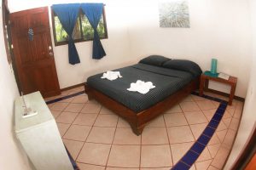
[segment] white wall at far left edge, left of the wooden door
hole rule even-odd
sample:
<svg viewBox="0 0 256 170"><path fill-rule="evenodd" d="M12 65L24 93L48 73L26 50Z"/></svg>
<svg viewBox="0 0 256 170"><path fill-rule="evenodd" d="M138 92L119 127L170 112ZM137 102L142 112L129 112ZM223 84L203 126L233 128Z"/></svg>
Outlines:
<svg viewBox="0 0 256 170"><path fill-rule="evenodd" d="M18 96L15 77L11 71L3 40L2 1L0 11L0 169L28 170L26 156L14 133L14 100Z"/></svg>

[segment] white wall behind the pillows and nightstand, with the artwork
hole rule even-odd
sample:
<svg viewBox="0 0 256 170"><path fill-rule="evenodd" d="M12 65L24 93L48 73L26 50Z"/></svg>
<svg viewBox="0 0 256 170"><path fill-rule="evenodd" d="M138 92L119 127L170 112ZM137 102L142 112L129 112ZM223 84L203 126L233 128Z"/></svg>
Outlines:
<svg viewBox="0 0 256 170"><path fill-rule="evenodd" d="M135 2L128 25L133 56L162 54L191 59L204 71L210 69L211 59L217 58L218 71L238 77L236 95L245 97L251 63L245 1L189 0L190 28L160 28L158 1ZM215 87L219 88L229 90L225 86Z"/></svg>

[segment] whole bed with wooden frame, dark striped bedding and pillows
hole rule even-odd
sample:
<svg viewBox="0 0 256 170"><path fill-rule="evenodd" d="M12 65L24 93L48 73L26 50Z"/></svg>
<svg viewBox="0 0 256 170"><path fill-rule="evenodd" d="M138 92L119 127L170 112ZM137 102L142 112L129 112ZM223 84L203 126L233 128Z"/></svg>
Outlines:
<svg viewBox="0 0 256 170"><path fill-rule="evenodd" d="M116 69L121 78L102 79L102 73L88 77L84 84L88 99L96 99L109 110L123 117L137 135L154 117L176 105L199 88L201 68L185 59L169 59L151 55L130 65ZM155 88L147 94L130 92L131 82L153 82Z"/></svg>

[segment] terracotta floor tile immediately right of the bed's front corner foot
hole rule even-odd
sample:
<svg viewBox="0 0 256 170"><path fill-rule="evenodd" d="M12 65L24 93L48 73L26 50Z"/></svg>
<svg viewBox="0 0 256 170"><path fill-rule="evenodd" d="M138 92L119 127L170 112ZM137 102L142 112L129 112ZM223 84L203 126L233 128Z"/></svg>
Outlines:
<svg viewBox="0 0 256 170"><path fill-rule="evenodd" d="M166 127L144 128L142 144L169 144Z"/></svg>

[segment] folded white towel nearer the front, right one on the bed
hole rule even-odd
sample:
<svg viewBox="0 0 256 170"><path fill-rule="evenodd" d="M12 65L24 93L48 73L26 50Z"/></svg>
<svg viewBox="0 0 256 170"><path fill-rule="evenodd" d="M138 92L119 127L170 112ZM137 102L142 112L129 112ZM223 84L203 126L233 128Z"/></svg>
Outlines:
<svg viewBox="0 0 256 170"><path fill-rule="evenodd" d="M151 88L155 88L152 82L137 80L137 82L131 82L131 87L127 88L127 90L131 92L138 92L140 94L147 94Z"/></svg>

